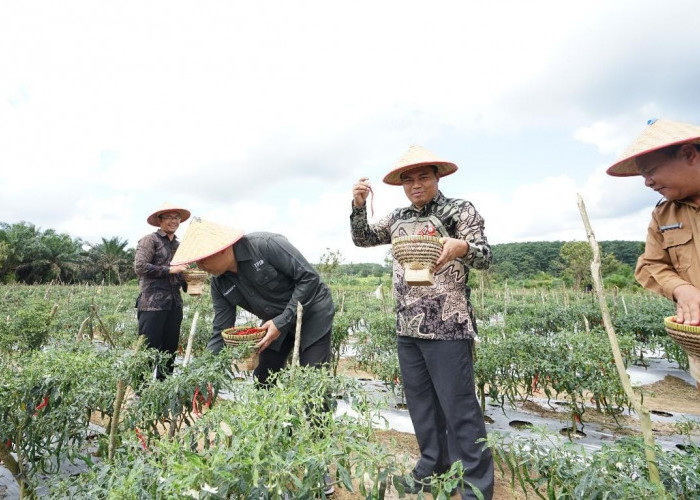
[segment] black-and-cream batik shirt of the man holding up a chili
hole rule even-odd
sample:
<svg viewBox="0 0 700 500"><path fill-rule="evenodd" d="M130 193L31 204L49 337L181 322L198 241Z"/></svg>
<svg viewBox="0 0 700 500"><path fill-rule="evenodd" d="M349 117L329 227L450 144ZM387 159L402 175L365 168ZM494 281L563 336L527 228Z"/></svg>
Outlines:
<svg viewBox="0 0 700 500"><path fill-rule="evenodd" d="M352 208L352 240L357 246L390 244L395 238L435 231L435 236L465 240L467 255L448 262L435 274L431 286L408 286L404 270L394 260L393 288L398 335L424 339L472 338L476 322L467 285L469 269L487 269L492 253L484 235L484 220L470 202L445 198L438 192L420 209L399 208L376 224L367 222L365 207Z"/></svg>

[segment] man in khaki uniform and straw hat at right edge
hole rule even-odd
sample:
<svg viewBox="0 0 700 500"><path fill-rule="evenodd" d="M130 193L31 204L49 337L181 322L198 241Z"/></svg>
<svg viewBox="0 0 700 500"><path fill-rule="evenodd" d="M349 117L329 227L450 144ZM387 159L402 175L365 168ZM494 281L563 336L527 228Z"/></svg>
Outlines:
<svg viewBox="0 0 700 500"><path fill-rule="evenodd" d="M700 127L650 120L608 174L641 175L662 195L635 278L676 303L676 322L700 325ZM700 391L700 358L688 355Z"/></svg>

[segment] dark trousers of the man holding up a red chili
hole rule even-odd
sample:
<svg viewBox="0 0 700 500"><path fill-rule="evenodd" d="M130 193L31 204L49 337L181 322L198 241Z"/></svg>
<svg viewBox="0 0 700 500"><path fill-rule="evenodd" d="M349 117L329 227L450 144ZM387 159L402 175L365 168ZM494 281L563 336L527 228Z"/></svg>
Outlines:
<svg viewBox="0 0 700 500"><path fill-rule="evenodd" d="M486 426L474 389L472 350L472 340L398 337L406 403L421 453L416 477L441 474L461 460L464 480L490 499L493 457L476 443L486 437ZM461 493L476 498L469 488Z"/></svg>

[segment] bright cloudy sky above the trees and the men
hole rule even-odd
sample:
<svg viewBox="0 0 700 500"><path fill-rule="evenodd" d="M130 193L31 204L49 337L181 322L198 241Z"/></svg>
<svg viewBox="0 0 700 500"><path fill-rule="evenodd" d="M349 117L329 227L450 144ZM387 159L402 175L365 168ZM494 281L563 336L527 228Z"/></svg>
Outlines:
<svg viewBox="0 0 700 500"><path fill-rule="evenodd" d="M605 168L650 118L700 124L697 0L4 1L0 222L134 247L163 201L355 248L412 144L459 165L491 243L642 240L658 196ZM187 223L178 234L184 234Z"/></svg>

